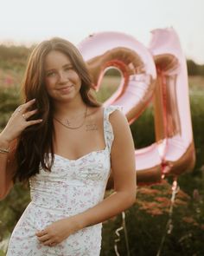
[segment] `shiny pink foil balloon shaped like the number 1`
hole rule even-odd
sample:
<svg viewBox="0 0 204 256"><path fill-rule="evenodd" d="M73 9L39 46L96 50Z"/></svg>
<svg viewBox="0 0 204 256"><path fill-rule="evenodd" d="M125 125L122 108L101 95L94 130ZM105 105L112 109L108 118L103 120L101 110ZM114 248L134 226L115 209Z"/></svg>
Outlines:
<svg viewBox="0 0 204 256"><path fill-rule="evenodd" d="M163 174L182 174L195 161L187 62L172 28L152 31L150 51L157 70L156 141L161 147Z"/></svg>

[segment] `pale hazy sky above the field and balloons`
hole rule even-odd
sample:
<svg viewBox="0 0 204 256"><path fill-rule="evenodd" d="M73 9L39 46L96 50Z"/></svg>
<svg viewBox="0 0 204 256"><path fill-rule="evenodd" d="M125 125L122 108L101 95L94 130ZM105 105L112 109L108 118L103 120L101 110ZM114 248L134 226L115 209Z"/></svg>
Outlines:
<svg viewBox="0 0 204 256"><path fill-rule="evenodd" d="M148 47L151 30L173 27L188 59L204 64L204 0L0 0L0 43L61 36L74 44L118 31Z"/></svg>

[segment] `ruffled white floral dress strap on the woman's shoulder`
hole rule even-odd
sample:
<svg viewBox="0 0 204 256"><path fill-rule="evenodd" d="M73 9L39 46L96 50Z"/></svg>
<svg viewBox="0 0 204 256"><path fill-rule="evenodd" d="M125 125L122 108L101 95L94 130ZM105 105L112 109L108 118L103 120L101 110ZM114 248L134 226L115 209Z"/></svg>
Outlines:
<svg viewBox="0 0 204 256"><path fill-rule="evenodd" d="M106 106L104 109L104 133L105 133L105 145L108 148L109 152L112 149L112 141L114 140L114 134L112 130L112 124L109 121L109 115L112 114L115 110L123 111L122 106Z"/></svg>

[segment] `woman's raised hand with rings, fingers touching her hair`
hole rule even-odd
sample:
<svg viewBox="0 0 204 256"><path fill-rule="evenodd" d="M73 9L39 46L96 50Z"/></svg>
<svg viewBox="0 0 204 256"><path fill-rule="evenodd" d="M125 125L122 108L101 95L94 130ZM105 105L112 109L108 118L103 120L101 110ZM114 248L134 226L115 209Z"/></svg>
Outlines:
<svg viewBox="0 0 204 256"><path fill-rule="evenodd" d="M27 121L27 119L34 115L38 109L29 111L29 108L35 103L35 99L26 102L20 105L14 113L10 116L10 120L8 121L6 127L3 129L1 133L1 138L3 141L7 141L10 143L15 140L19 135L21 135L22 131L34 124L40 123L42 120L32 120Z"/></svg>

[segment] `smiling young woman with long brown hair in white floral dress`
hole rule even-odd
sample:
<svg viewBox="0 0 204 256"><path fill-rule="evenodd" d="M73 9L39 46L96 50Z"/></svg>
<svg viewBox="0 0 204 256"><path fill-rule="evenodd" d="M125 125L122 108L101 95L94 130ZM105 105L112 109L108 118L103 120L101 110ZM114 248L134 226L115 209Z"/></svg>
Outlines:
<svg viewBox="0 0 204 256"><path fill-rule="evenodd" d="M16 108L0 134L0 195L16 181L31 202L11 235L8 256L99 255L102 222L136 197L134 145L123 113L91 95L86 63L53 38L29 57ZM112 169L114 193L104 199Z"/></svg>

